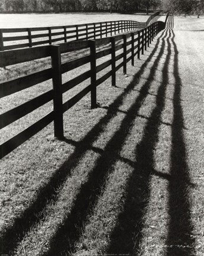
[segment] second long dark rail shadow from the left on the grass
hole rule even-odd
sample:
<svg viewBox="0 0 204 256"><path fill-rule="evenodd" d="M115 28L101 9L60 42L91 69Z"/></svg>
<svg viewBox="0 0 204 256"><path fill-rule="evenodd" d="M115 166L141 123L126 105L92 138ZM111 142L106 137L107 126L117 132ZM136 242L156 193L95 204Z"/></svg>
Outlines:
<svg viewBox="0 0 204 256"><path fill-rule="evenodd" d="M74 249L74 245L81 235L83 223L86 222L87 217L92 212L93 206L98 200L99 194L103 190L105 180L108 174L112 171L112 168L118 159L119 152L122 149L122 145L124 144L125 139L131 130L132 122L137 117L141 104L143 104L145 97L148 95L148 89L150 89L151 81L154 79L156 68L163 51L164 41L162 43L160 52L158 53L157 59L151 69L148 81L145 82L141 88L140 94L135 99L134 104L132 104L129 108L119 129L116 130L114 136L105 146L101 156L99 157L98 161L96 161L95 167L89 174L88 181L80 188L75 200L75 206L70 212L70 215L67 216L63 226L61 226L56 232L55 237L50 244L50 250L45 255L61 255ZM141 73L143 71L141 70L139 72ZM137 82L140 81L140 78L138 79L138 75L139 74L137 73L137 76L132 79L131 84L129 84L125 89L125 94L131 91ZM118 107L119 106L115 106L115 104L111 104L108 109L108 113L114 114L115 116L115 112L117 112Z"/></svg>

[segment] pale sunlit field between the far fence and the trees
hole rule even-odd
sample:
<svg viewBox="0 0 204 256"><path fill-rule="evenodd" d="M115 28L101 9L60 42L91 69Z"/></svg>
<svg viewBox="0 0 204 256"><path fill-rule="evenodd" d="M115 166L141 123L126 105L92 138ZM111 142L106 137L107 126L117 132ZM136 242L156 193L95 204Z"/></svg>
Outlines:
<svg viewBox="0 0 204 256"><path fill-rule="evenodd" d="M50 27L57 25L75 25L85 23L96 23L100 21L113 20L134 20L139 22L147 21L149 15L144 14L109 14L109 13L67 13L67 14L0 14L1 28L16 28L16 27ZM91 32L93 30L89 30ZM52 30L53 33L63 33L62 29ZM46 31L32 31L32 34L45 34ZM69 34L69 36L75 33ZM27 36L27 32L20 33L5 33L4 37ZM110 34L108 35L110 36ZM52 36L52 39L60 38L61 36ZM33 42L47 40L48 37L33 39ZM28 40L4 41L4 46L14 44L28 43ZM64 43L64 40L56 43Z"/></svg>

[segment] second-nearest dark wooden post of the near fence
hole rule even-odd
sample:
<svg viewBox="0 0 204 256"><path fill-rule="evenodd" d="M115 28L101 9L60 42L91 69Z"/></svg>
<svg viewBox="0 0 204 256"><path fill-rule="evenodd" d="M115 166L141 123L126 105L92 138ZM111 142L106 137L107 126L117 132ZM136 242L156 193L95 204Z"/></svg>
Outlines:
<svg viewBox="0 0 204 256"><path fill-rule="evenodd" d="M90 107L96 108L96 41L90 40Z"/></svg>

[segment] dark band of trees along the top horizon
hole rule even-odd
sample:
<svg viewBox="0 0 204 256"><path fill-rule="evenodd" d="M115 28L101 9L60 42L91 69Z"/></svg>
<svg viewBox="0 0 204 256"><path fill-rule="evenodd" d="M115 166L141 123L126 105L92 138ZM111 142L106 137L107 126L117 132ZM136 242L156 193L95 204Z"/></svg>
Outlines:
<svg viewBox="0 0 204 256"><path fill-rule="evenodd" d="M171 13L203 14L204 0L0 0L0 12L138 12L160 8Z"/></svg>

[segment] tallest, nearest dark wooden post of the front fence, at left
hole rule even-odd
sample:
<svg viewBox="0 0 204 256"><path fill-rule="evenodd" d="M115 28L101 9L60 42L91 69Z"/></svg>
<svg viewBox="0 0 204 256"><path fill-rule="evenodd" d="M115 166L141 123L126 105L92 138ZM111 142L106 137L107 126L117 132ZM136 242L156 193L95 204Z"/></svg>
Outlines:
<svg viewBox="0 0 204 256"><path fill-rule="evenodd" d="M61 89L61 53L59 45L51 46L51 64L53 68L53 105L54 136L63 139L63 105Z"/></svg>

